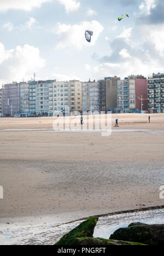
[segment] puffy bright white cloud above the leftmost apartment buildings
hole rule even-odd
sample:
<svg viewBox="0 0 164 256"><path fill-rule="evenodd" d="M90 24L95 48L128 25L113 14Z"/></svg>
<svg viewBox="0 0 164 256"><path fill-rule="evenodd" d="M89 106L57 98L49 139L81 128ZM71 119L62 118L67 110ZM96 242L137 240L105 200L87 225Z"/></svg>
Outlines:
<svg viewBox="0 0 164 256"><path fill-rule="evenodd" d="M45 66L45 60L40 58L39 49L25 44L15 49L5 50L0 43L0 77L8 81L29 79L33 72Z"/></svg>

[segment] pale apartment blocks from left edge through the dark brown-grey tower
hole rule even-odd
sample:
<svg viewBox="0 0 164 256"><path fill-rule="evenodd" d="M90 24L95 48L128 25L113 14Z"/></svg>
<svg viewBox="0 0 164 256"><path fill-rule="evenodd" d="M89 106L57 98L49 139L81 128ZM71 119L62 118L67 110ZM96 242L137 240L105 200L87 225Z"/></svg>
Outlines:
<svg viewBox="0 0 164 256"><path fill-rule="evenodd" d="M2 86L3 116L52 115L67 110L107 111L116 108L118 77L91 82L30 81ZM108 93L107 93L108 92Z"/></svg>

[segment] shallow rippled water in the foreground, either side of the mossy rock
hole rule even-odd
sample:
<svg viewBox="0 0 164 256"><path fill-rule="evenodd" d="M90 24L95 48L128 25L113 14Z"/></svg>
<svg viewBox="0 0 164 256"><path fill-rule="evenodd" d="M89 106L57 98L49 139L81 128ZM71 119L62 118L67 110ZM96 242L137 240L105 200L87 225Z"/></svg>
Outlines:
<svg viewBox="0 0 164 256"><path fill-rule="evenodd" d="M0 229L0 245L54 245L67 232L82 221L69 224L40 223L33 226L10 226ZM128 226L132 222L163 224L164 210L118 214L99 217L94 237L109 238L116 229Z"/></svg>

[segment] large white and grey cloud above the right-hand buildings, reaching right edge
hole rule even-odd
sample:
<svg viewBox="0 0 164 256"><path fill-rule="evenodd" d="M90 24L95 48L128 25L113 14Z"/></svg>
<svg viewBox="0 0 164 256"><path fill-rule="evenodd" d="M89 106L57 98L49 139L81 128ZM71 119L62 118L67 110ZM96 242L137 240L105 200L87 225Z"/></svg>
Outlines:
<svg viewBox="0 0 164 256"><path fill-rule="evenodd" d="M118 75L121 78L130 74L148 77L152 73L163 72L163 30L164 24L137 24L133 28L124 28L112 42L113 53L101 58L101 64L93 68L93 72L101 77Z"/></svg>

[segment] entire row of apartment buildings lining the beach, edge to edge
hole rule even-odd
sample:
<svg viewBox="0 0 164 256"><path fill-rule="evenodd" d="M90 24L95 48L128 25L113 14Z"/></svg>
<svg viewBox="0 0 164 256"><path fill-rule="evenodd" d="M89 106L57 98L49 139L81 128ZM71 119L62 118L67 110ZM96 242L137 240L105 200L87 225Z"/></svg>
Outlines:
<svg viewBox="0 0 164 256"><path fill-rule="evenodd" d="M13 82L0 89L0 117L3 115L52 115L54 112L164 113L164 74L150 78L130 75L124 80L56 82L56 80Z"/></svg>

